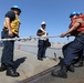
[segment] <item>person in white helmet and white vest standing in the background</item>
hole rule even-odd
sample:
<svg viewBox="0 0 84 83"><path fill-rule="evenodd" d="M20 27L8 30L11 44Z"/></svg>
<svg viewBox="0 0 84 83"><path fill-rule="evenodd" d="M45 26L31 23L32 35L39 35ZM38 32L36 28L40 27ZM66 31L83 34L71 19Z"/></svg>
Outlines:
<svg viewBox="0 0 84 83"><path fill-rule="evenodd" d="M39 50L38 50L38 60L40 60L40 61L43 61L43 58L46 58L45 56L45 51L46 51L45 43L46 43L48 32L45 31L45 27L46 27L46 23L43 21L41 23L41 28L36 32L38 37L43 37L43 38L40 38L39 41L38 41L38 48L39 48Z"/></svg>

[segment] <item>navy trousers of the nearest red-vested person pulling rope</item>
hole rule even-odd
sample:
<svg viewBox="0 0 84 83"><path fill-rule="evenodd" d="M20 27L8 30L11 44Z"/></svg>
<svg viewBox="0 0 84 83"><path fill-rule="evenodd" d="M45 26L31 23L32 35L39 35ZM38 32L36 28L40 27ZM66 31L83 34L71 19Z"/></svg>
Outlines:
<svg viewBox="0 0 84 83"><path fill-rule="evenodd" d="M66 48L62 48L63 54L64 54L64 61L63 64L71 65L73 59L75 58L76 53L82 51L84 49L84 34L77 35L74 41L69 43Z"/></svg>

